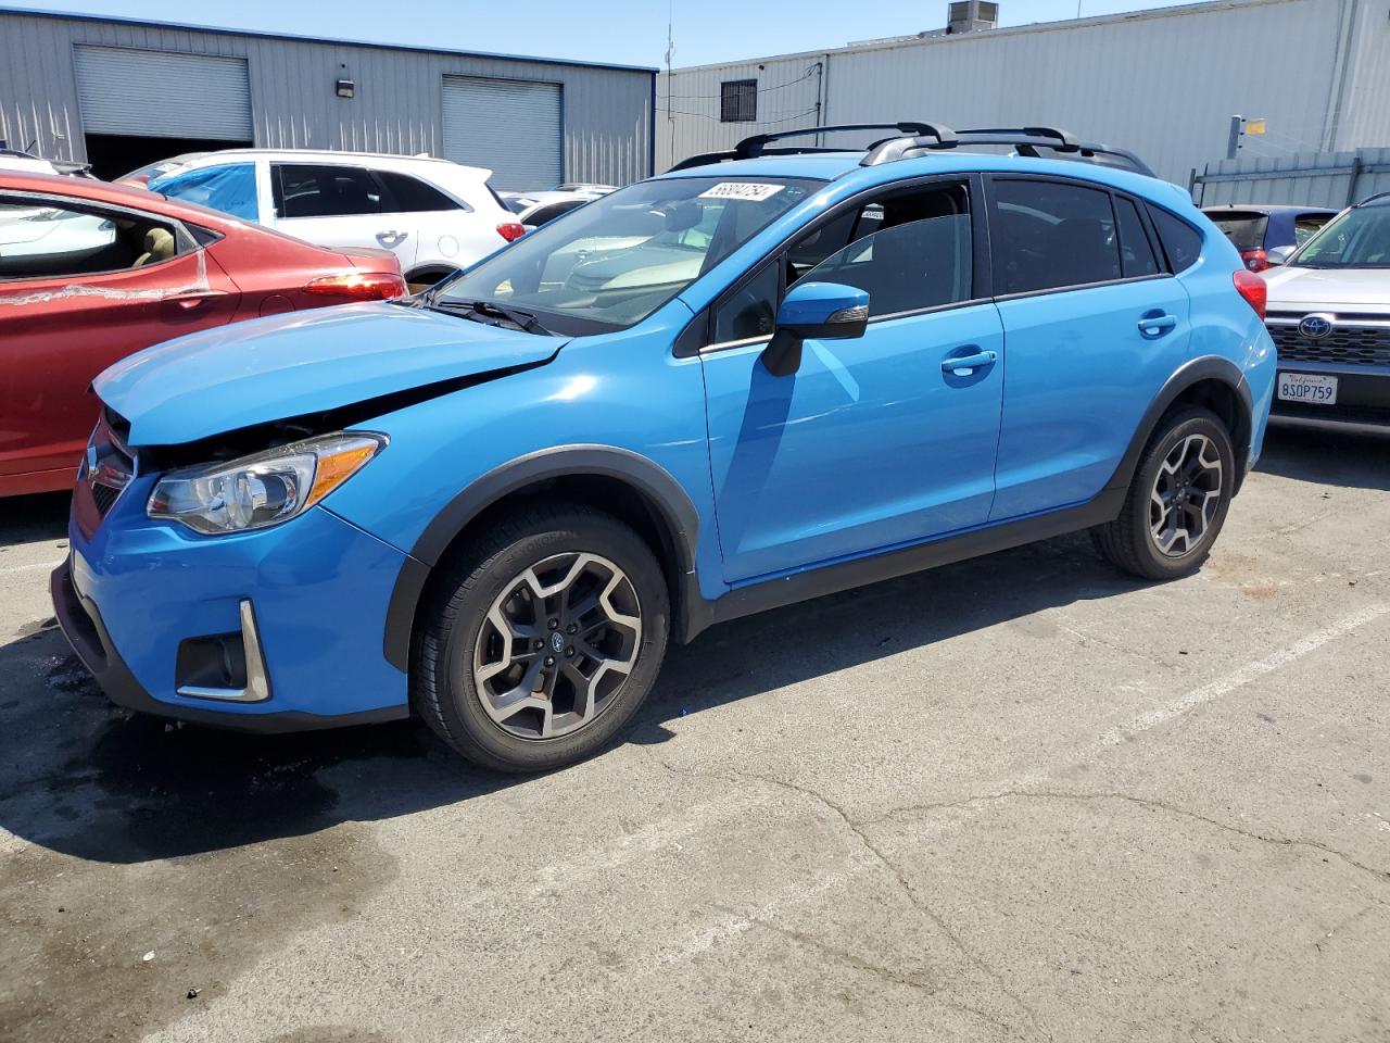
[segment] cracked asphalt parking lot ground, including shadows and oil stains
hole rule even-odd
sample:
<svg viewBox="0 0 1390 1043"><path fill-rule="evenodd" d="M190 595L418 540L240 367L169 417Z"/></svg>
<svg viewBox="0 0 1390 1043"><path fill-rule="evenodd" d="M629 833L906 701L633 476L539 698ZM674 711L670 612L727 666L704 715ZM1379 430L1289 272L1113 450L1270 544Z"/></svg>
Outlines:
<svg viewBox="0 0 1390 1043"><path fill-rule="evenodd" d="M0 1039L1390 1039L1390 437L1272 431L1176 583L719 627L534 779L111 708L65 510L0 501Z"/></svg>

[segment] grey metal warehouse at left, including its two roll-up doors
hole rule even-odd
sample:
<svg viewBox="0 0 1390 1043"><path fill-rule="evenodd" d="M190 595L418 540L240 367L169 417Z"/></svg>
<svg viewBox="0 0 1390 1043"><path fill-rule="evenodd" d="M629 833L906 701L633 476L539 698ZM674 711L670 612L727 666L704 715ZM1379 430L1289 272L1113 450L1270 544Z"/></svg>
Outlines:
<svg viewBox="0 0 1390 1043"><path fill-rule="evenodd" d="M653 161L656 70L0 11L0 139L118 177L238 146L430 153L502 189Z"/></svg>

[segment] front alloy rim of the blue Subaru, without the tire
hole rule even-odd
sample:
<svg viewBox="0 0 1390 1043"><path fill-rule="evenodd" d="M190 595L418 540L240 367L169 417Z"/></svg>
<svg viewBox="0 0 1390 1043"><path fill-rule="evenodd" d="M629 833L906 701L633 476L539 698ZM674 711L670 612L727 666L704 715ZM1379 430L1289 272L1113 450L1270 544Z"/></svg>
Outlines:
<svg viewBox="0 0 1390 1043"><path fill-rule="evenodd" d="M570 552L514 576L475 642L473 680L503 731L546 740L592 723L637 666L642 609L607 558Z"/></svg>

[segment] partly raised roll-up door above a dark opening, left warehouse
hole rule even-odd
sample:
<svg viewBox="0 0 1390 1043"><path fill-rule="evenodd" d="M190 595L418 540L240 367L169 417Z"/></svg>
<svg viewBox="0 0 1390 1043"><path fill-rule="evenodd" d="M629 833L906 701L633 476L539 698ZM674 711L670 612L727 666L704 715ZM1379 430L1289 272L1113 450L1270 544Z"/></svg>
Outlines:
<svg viewBox="0 0 1390 1043"><path fill-rule="evenodd" d="M88 134L252 140L245 58L88 45L74 53Z"/></svg>

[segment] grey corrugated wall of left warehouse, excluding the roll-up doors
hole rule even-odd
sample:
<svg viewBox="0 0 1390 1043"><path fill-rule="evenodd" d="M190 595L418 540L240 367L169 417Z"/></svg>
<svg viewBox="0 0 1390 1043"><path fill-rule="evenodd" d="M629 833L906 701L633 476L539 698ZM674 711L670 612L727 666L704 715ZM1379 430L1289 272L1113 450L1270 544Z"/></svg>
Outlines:
<svg viewBox="0 0 1390 1043"><path fill-rule="evenodd" d="M0 11L0 138L50 159L85 160L76 43L245 57L256 145L442 154L445 75L562 83L564 177L626 184L646 177L652 74L520 58L249 36ZM334 82L356 82L341 99Z"/></svg>

